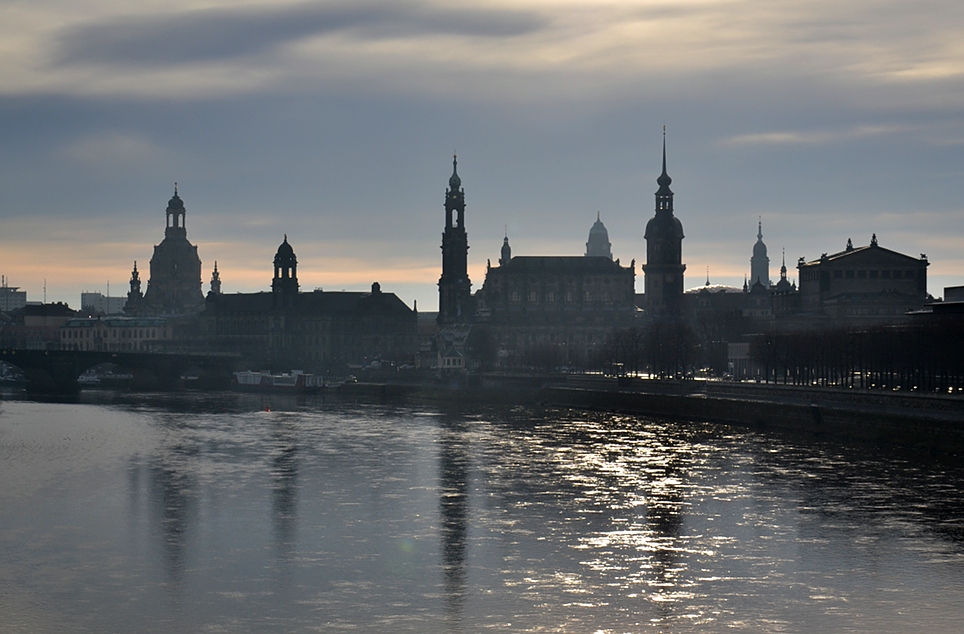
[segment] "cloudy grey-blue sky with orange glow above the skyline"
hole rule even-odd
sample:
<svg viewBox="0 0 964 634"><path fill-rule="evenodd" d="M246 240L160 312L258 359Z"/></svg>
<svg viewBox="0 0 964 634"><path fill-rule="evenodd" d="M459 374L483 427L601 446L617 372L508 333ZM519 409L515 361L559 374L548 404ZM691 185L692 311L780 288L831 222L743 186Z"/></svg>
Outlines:
<svg viewBox="0 0 964 634"><path fill-rule="evenodd" d="M964 284L958 0L5 0L0 274L79 307L146 271L178 183L204 291L379 282L438 306L458 154L469 267L636 261L663 126L686 287L869 244ZM46 291L45 291L46 289Z"/></svg>

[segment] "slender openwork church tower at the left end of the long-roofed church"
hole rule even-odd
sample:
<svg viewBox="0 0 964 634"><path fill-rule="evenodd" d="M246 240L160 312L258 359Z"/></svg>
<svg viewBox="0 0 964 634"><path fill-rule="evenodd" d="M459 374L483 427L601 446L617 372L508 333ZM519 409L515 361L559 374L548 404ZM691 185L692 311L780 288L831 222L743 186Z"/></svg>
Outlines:
<svg viewBox="0 0 964 634"><path fill-rule="evenodd" d="M452 176L445 190L445 230L442 232L442 276L438 281L439 325L464 323L472 317L469 280L469 237L465 232L465 190L452 157Z"/></svg>

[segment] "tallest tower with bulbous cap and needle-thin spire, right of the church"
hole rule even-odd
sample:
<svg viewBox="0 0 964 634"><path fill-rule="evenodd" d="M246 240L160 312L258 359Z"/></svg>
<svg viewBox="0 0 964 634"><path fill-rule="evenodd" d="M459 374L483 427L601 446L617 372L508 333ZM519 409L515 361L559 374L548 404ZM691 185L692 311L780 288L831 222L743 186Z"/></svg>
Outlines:
<svg viewBox="0 0 964 634"><path fill-rule="evenodd" d="M663 172L656 179L656 215L646 223L646 306L655 317L675 318L683 304L683 224L673 215L673 179L666 173L666 127L663 126Z"/></svg>

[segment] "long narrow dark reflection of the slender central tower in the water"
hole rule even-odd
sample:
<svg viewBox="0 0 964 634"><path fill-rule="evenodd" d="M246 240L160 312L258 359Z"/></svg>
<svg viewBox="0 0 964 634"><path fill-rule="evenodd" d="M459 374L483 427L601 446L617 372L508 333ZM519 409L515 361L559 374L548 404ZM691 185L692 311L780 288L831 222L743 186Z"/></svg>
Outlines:
<svg viewBox="0 0 964 634"><path fill-rule="evenodd" d="M442 419L439 437L439 513L442 575L448 618L458 622L465 600L469 522L469 447L464 423Z"/></svg>

